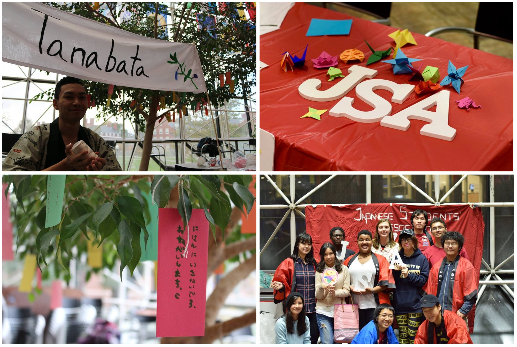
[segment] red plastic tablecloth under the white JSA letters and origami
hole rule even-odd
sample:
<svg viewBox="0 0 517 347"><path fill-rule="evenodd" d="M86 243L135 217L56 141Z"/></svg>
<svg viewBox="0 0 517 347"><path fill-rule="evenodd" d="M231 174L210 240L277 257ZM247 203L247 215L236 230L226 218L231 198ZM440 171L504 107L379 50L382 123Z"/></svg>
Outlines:
<svg viewBox="0 0 517 347"><path fill-rule="evenodd" d="M305 35L312 18L354 21L349 35L308 37ZM461 94L451 85L442 87L450 91L449 125L457 131L452 141L420 135L420 129L428 123L415 119L410 120L407 131L382 127L379 122L361 123L333 117L328 112L322 115L321 121L300 119L308 107L331 109L339 101L315 102L298 94L298 86L309 78L322 81L320 90L337 83L336 80L327 82L328 69L315 69L311 58L317 58L322 51L335 56L356 48L366 56L359 65L366 66L371 51L364 39L375 50L387 50L394 47L388 34L395 30L397 28L296 3L280 30L260 37L260 60L269 65L260 71L260 127L275 135L276 171L513 171L513 60L432 37L413 33L417 45L408 44L402 50L407 57L423 59L413 63L416 68L423 63L420 71L427 65L438 67L439 82L447 75L449 59L457 68L468 65ZM288 51L300 57L307 43L305 67L287 73L281 70L282 53ZM386 59L391 59L391 55ZM348 75L349 66L351 64L339 60L337 67ZM417 84L408 81L410 74L394 75L391 65L383 62L375 62L368 68L378 71L374 78ZM375 93L391 100L392 94L386 90ZM355 99L355 108L372 109L356 97L355 88L346 96ZM404 103L391 103L391 115L425 97L413 92ZM481 108L471 108L470 112L460 109L454 101L465 97L473 99ZM430 111L434 111L434 107Z"/></svg>

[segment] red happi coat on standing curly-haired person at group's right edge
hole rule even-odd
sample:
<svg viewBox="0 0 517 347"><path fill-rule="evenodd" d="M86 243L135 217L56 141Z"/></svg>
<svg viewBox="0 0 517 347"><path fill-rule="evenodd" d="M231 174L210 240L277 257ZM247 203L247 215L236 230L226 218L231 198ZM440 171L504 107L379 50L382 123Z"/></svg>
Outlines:
<svg viewBox="0 0 517 347"><path fill-rule="evenodd" d="M435 263L429 273L429 280L425 283L422 290L426 294L433 294L438 296L439 286L442 285L439 281L439 274L444 270L444 258L441 262ZM478 281L476 281L477 274L474 266L465 258L456 257L454 260L454 280L450 280L450 286L447 291L447 309L452 307L452 312L457 312L465 303L465 301L478 295ZM444 308L445 309L445 308Z"/></svg>

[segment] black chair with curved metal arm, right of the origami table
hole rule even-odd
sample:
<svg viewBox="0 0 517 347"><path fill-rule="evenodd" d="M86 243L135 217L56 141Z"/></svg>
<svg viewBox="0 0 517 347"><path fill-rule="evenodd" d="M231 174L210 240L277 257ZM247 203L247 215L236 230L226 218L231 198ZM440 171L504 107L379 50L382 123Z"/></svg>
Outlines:
<svg viewBox="0 0 517 347"><path fill-rule="evenodd" d="M496 20L495 20L496 19ZM425 36L435 36L449 31L464 31L474 35L474 48L479 49L479 37L513 43L513 3L479 3L475 28L443 26L429 31Z"/></svg>

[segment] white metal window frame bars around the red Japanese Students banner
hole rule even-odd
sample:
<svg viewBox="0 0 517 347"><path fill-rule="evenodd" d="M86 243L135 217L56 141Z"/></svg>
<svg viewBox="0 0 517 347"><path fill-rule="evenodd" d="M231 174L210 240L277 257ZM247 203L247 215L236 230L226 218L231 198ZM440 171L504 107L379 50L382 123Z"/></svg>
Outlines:
<svg viewBox="0 0 517 347"><path fill-rule="evenodd" d="M287 209L285 215L280 220L280 223L277 225L275 230L273 230L273 233L267 240L264 247L260 250L260 256L264 253L264 251L267 249L271 241L275 238L275 235L280 230L280 227L285 222L285 219L287 218L289 212L291 211L291 253L293 251L294 243L296 240L296 220L295 220L295 212L301 215L305 219L305 214L301 212L302 209L305 209L308 204L300 204L303 200L311 196L314 192L316 192L318 189L320 189L322 186L324 186L326 183L328 183L330 180L332 180L334 177L338 175L332 175L329 178L327 178L322 183L318 184L316 187L314 187L309 193L307 193L305 196L298 199L298 201L295 201L295 192L296 192L296 175L291 174L290 177L290 197L291 199L288 199L287 196L281 191L281 189L277 186L277 184L269 177L269 175L263 175L275 188L275 190L280 194L280 196L285 200L286 204L260 204L259 209ZM463 180L465 180L469 175L463 175L458 182L456 182L450 190L445 193L442 198L439 198L440 189L439 189L439 176L440 175L433 175L434 176L434 198L429 196L427 193L423 192L420 188L418 188L413 182L411 182L409 179L404 177L403 175L397 175L402 180L407 182L410 186L412 186L417 192L419 192L422 196L424 196L426 199L430 201L430 203L407 203L408 205L413 206L447 206L447 205L457 205L457 204L465 204L470 206L477 206L477 207L488 207L489 208L489 232L490 232L490 264L488 264L484 259L481 259L482 265L486 268L486 270L480 270L480 276L486 275L486 278L484 280L479 281L479 285L481 286L479 288L478 293L478 299L476 301L476 304L479 302L479 299L484 293L484 290L486 286L489 285L495 285L495 286L501 286L501 288L504 290L504 292L509 296L511 301L513 302L514 298L514 292L513 290L508 287L508 285L513 285L514 280L503 280L501 279L499 274L513 274L514 270L501 270L500 268L506 264L508 261L513 259L513 254L509 256L507 259L503 260L501 263L495 265L495 208L496 207L513 207L513 202L495 202L495 187L494 187L494 175L488 175L489 185L490 185L490 193L489 193L489 199L490 202L477 202L477 203L469 203L469 202L446 202L442 203L454 190L457 188ZM366 203L371 203L372 201L372 176L366 175ZM311 206L323 206L323 205L330 205L330 206L345 206L347 203L342 204L311 204ZM494 279L492 279L492 277Z"/></svg>

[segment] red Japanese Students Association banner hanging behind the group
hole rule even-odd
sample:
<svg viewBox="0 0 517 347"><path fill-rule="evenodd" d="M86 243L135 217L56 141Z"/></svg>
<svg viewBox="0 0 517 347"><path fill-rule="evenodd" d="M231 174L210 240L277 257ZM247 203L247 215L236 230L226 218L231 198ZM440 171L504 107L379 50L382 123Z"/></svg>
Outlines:
<svg viewBox="0 0 517 347"><path fill-rule="evenodd" d="M319 252L322 244L330 241L330 229L341 227L345 231L345 240L349 242L347 248L358 251L357 233L363 229L369 230L375 236L375 227L379 219L387 218L393 233L398 234L403 229L413 229L411 214L422 209L428 213L429 222L427 231L431 233L430 222L434 217L442 218L448 231L459 231L465 237L463 247L467 251L470 262L479 270L483 256L484 222L480 208L470 208L468 205L448 206L411 206L398 203L370 203L350 204L343 207L336 206L307 206L305 208L307 233L312 237L314 257L319 260ZM396 238L396 241L398 239ZM473 312L469 314L469 326L473 326ZM472 322L472 324L470 324Z"/></svg>

